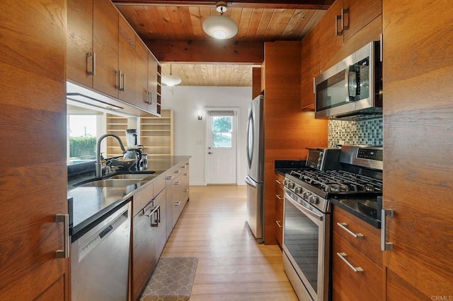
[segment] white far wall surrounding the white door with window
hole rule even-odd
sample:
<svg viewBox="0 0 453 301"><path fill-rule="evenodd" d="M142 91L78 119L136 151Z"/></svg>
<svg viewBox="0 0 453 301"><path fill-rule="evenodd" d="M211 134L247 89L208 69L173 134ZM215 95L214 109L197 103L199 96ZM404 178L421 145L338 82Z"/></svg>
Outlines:
<svg viewBox="0 0 453 301"><path fill-rule="evenodd" d="M246 126L251 87L162 87L162 107L174 114L175 155L191 155L190 185L205 185L206 116L205 107L237 107L237 184L245 185L247 175ZM198 113L203 119L198 120Z"/></svg>

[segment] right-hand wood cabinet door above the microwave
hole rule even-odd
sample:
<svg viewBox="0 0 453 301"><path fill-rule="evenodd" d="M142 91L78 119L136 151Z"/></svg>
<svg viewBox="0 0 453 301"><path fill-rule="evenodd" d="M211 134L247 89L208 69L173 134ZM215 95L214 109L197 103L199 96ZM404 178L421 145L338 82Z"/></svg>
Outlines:
<svg viewBox="0 0 453 301"><path fill-rule="evenodd" d="M382 15L382 0L343 0L345 9L345 25L343 42L358 33L372 20Z"/></svg>

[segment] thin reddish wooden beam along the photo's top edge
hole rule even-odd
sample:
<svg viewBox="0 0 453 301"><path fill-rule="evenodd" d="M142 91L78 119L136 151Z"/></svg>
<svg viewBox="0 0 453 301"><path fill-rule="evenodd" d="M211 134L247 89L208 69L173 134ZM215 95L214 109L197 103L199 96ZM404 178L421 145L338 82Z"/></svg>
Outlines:
<svg viewBox="0 0 453 301"><path fill-rule="evenodd" d="M212 0L112 0L115 5L215 6ZM227 6L241 8L292 8L327 10L335 0L235 0Z"/></svg>

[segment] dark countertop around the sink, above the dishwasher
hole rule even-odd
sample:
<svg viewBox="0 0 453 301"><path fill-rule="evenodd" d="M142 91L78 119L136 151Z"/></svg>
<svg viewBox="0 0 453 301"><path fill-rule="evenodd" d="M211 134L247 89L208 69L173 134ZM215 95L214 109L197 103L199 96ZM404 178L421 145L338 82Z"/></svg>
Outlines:
<svg viewBox="0 0 453 301"><path fill-rule="evenodd" d="M71 179L68 182L68 200L71 211L69 220L72 222L69 234L72 239L83 235L87 228L89 230L92 225L96 225L96 220L108 216L115 208L129 202L139 189L151 184L161 175L164 177L167 170L189 158L189 155L149 158L147 170L153 170L154 174L137 179L133 184L127 182L124 185L117 184L115 187L74 187L73 184L93 178L94 175L81 175Z"/></svg>

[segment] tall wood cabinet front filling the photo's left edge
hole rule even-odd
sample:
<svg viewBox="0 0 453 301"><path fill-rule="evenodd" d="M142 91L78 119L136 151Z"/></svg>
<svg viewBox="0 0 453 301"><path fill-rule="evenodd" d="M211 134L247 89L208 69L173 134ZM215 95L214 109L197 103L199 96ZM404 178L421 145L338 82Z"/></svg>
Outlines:
<svg viewBox="0 0 453 301"><path fill-rule="evenodd" d="M0 299L69 300L66 0L0 1ZM68 225L67 225L68 226Z"/></svg>

